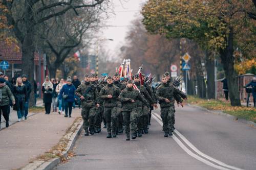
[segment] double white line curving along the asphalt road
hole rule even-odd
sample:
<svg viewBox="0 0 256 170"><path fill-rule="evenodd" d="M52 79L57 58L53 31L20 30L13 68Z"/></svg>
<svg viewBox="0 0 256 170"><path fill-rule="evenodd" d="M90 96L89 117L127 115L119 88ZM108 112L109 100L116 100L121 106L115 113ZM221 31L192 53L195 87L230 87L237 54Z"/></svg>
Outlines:
<svg viewBox="0 0 256 170"><path fill-rule="evenodd" d="M157 114L157 113L154 113L152 114L152 116L156 119L156 121L162 126L163 123L161 122L161 117ZM194 154L193 152L191 152L174 134L173 134L173 138L174 140L178 143L178 145L190 156L196 158L197 160L209 165L209 166L212 166L212 167L215 167L217 169L236 169L236 170L242 170L240 168L237 168L237 167L234 167L234 166L230 166L230 165L227 165L219 160L216 160L210 156L207 156L205 155L204 153L202 153L201 151L199 151L192 143L190 143L181 133L179 133L177 130L175 130L176 134L192 149L194 150L197 154L201 155L202 157L205 157L209 160L211 160L212 162L215 162L221 166L218 166L216 164L213 164L211 162L209 162L208 160L204 159L204 158L201 158L199 157L198 155ZM177 133L178 132L178 133ZM224 167L222 167L224 166ZM225 168L227 167L227 168Z"/></svg>

